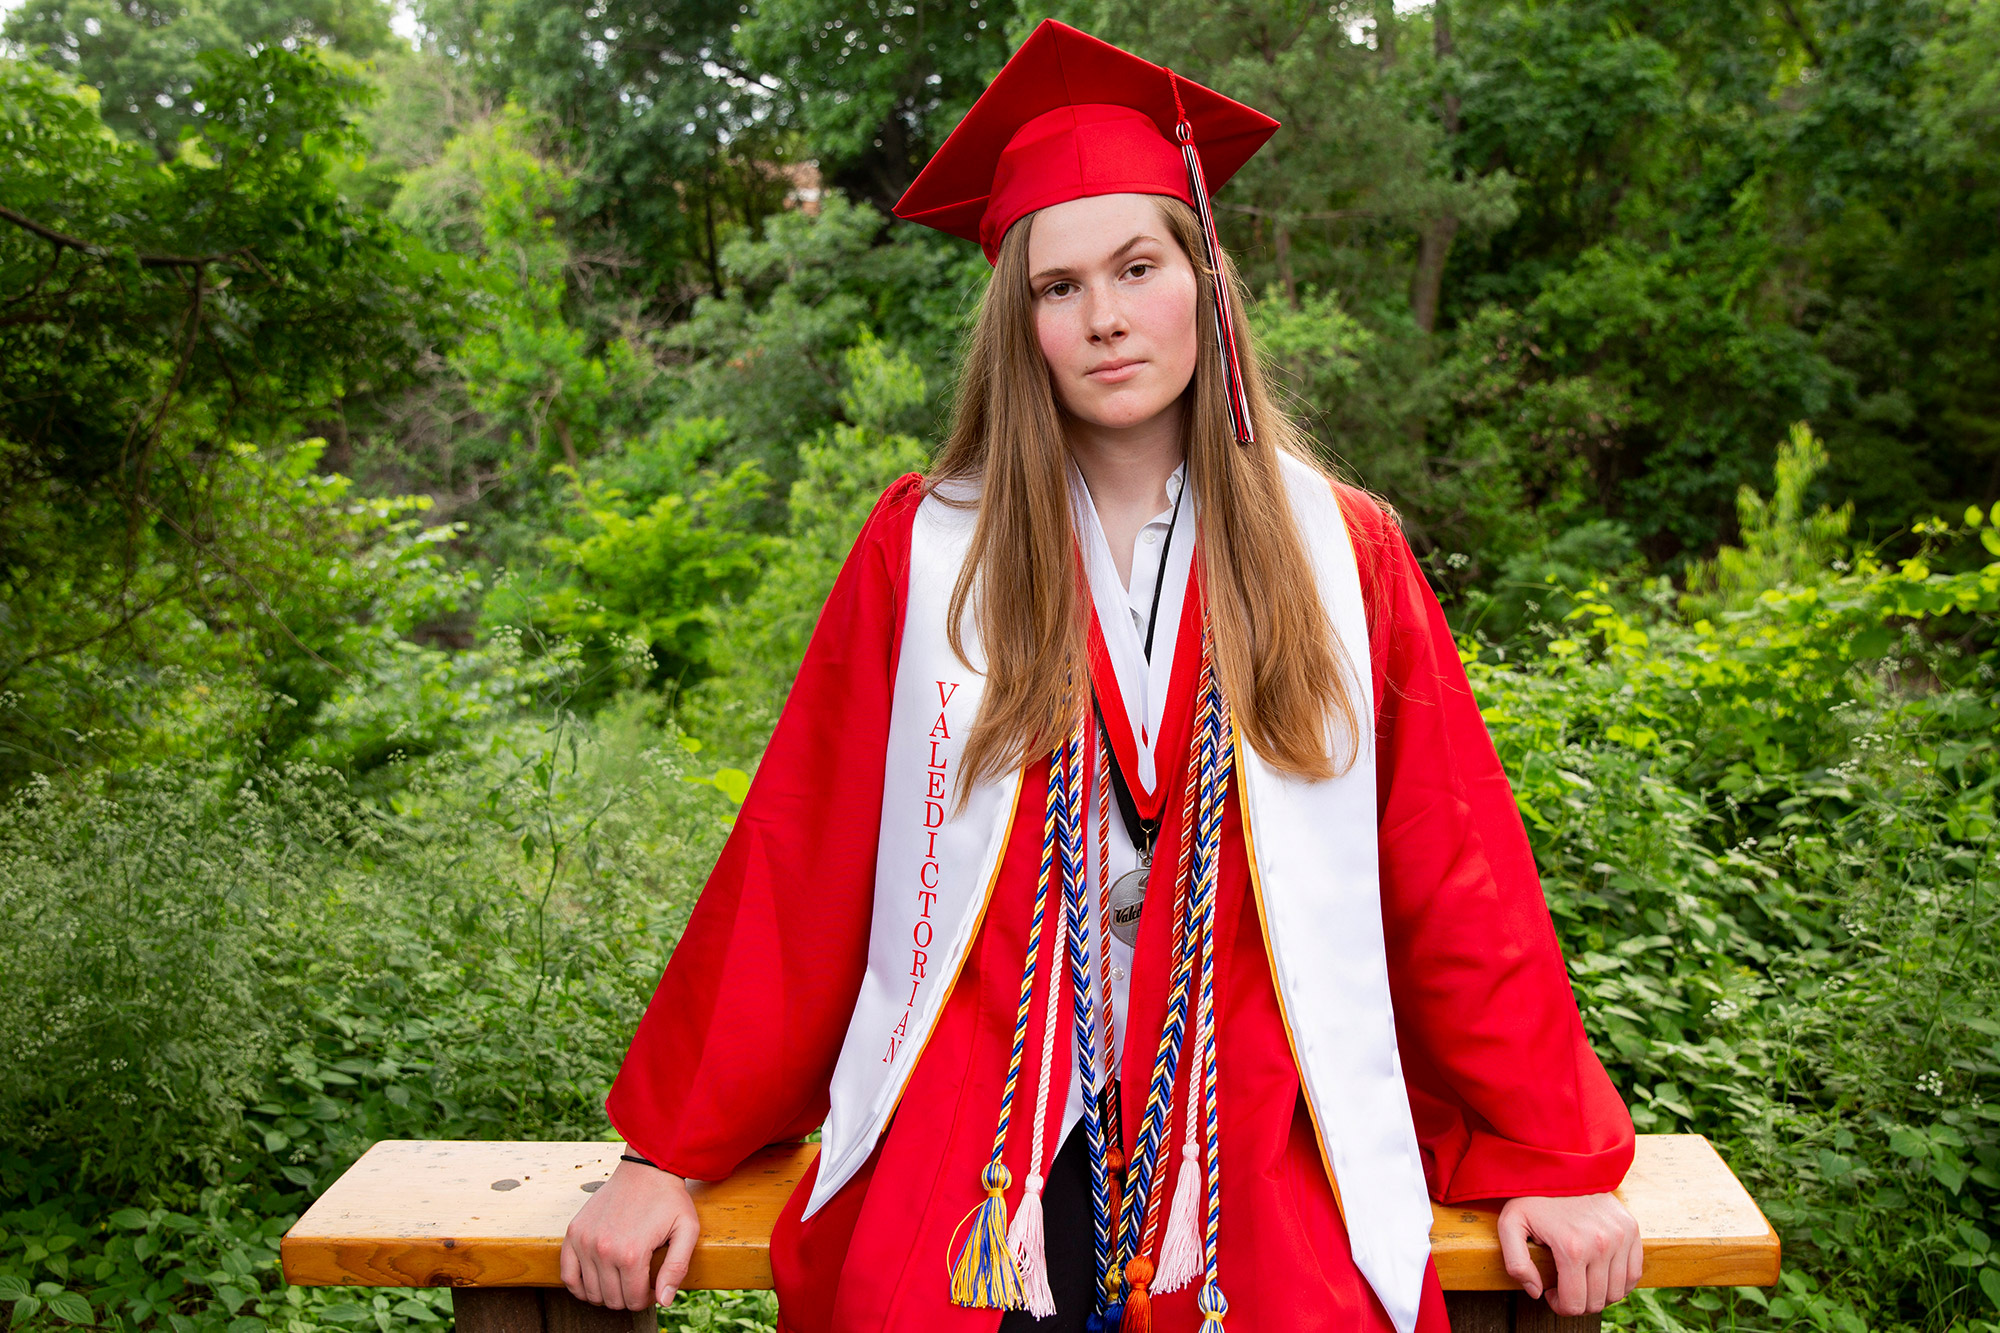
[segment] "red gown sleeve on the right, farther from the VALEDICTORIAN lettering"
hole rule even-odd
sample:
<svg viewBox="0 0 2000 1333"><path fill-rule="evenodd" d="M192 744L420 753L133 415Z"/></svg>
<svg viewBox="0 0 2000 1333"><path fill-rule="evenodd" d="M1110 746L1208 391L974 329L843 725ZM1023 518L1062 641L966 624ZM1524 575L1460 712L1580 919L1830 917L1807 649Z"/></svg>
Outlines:
<svg viewBox="0 0 2000 1333"><path fill-rule="evenodd" d="M1342 490L1376 695L1396 1035L1442 1203L1614 1189L1632 1117L1590 1049L1514 791L1396 520Z"/></svg>

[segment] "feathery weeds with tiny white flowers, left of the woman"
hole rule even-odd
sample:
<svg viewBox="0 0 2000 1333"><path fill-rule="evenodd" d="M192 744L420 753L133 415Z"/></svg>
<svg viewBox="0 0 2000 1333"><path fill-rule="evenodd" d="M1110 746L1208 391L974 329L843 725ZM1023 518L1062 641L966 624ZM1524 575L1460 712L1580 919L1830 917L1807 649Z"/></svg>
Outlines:
<svg viewBox="0 0 2000 1333"><path fill-rule="evenodd" d="M476 753L410 761L386 801L316 767L234 791L158 767L8 805L16 1321L76 1321L74 1301L178 1333L448 1315L444 1293L286 1289L276 1237L374 1139L608 1133L608 1057L730 801L684 781L656 707L582 723L574 687L574 662L522 685Z"/></svg>

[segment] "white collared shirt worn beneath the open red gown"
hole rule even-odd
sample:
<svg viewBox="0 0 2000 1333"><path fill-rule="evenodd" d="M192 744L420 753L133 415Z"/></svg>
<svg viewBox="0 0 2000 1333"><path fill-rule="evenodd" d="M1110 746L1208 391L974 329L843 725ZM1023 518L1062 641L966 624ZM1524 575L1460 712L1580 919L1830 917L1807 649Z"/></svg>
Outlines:
<svg viewBox="0 0 2000 1333"><path fill-rule="evenodd" d="M1104 522L1098 518L1098 508L1090 498L1090 488L1084 484L1084 476L1076 470L1076 464L1070 464L1070 502L1076 532L1084 546L1084 564L1090 576L1090 600L1098 608L1098 624L1104 630L1104 648L1110 656L1112 675L1118 679L1118 693L1124 697L1126 719L1132 725L1132 741L1138 749L1138 781L1148 791L1152 791L1160 781L1154 747L1160 739L1160 723L1166 715L1166 695L1174 681L1174 646L1180 640L1180 614L1188 596L1188 574L1194 568L1196 496L1190 494L1188 500L1180 504L1178 518L1174 514L1174 500L1180 498L1180 488L1184 484L1186 464L1174 468L1174 474L1166 480L1168 506L1154 514L1138 530L1138 538L1132 542L1132 582L1128 586L1118 578L1118 564L1112 558L1110 540L1104 536ZM1168 540L1168 532L1172 532L1172 540ZM1164 568L1162 548L1166 556ZM1148 660L1146 616L1152 610L1154 584L1162 576L1166 582L1160 586L1160 610L1154 622L1152 658ZM1084 849L1090 867L1090 901L1096 903L1096 895L1104 893L1104 887L1098 883L1096 857L1096 775L1092 775L1090 781L1092 789L1084 823ZM1112 881L1138 867L1138 849L1132 847L1132 837L1126 833L1116 801L1110 811L1108 845ZM1090 917L1094 933L1100 917L1096 911L1092 911ZM1098 941L1092 939L1092 955L1096 955L1098 947ZM1132 985L1132 947L1112 937L1110 959L1112 1051L1114 1059L1122 1059L1126 1009ZM1084 1113L1084 1089L1082 1081L1076 1077L1074 1063L1076 1043L1070 1041L1066 1045L1070 1047L1070 1097L1062 1111L1062 1133L1056 1143L1048 1147L1048 1157L1054 1157L1060 1141L1068 1137L1070 1129ZM1098 1071L1098 1075L1102 1077L1104 1071Z"/></svg>

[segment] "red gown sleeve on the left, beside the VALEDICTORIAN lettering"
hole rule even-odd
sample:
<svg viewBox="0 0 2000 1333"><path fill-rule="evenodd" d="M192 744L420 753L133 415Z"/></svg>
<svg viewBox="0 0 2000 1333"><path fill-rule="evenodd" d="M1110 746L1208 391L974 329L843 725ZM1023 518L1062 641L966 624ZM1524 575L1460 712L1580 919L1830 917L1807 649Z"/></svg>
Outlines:
<svg viewBox="0 0 2000 1333"><path fill-rule="evenodd" d="M700 1181L826 1117L868 967L882 767L918 476L848 552L688 929L606 1111L650 1161Z"/></svg>

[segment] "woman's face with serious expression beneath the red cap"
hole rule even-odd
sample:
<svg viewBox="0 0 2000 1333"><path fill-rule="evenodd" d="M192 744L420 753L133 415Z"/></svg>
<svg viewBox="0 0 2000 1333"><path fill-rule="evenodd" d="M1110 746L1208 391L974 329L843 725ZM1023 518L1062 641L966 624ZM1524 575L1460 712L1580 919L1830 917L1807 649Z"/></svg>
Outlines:
<svg viewBox="0 0 2000 1333"><path fill-rule="evenodd" d="M1150 194L1044 208L1028 236L1034 332L1056 398L1106 430L1150 422L1194 378L1194 264Z"/></svg>

